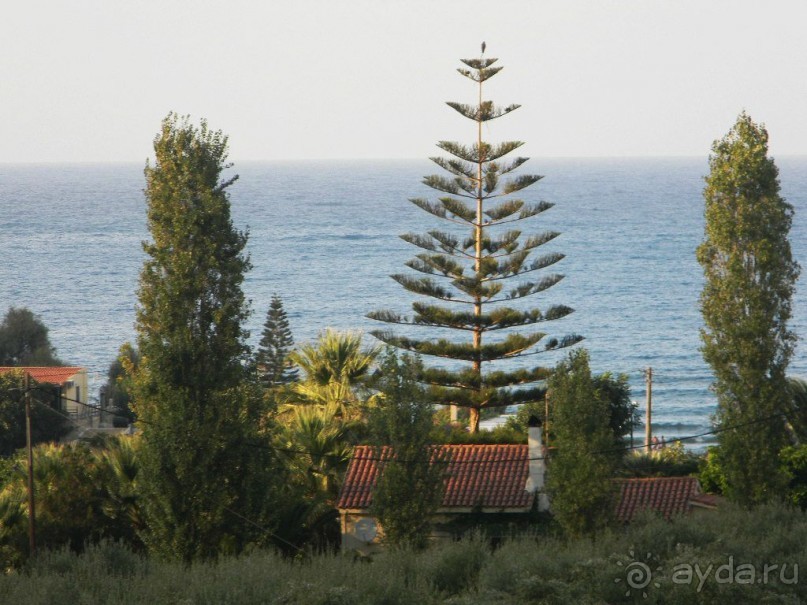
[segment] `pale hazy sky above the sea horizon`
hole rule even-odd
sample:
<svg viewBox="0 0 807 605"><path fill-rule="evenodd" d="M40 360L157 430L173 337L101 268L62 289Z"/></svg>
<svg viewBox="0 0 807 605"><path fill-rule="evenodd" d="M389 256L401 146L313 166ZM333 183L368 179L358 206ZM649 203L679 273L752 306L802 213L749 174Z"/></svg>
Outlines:
<svg viewBox="0 0 807 605"><path fill-rule="evenodd" d="M705 156L746 110L807 154L804 0L25 0L0 19L0 162L145 162L171 111L230 159L472 142L460 58L532 157Z"/></svg>

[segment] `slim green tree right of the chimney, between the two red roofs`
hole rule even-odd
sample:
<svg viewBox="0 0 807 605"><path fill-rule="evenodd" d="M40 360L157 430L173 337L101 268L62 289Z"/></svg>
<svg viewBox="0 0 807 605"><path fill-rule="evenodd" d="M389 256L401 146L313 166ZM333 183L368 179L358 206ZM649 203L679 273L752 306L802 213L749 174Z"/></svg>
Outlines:
<svg viewBox="0 0 807 605"><path fill-rule="evenodd" d="M571 536L605 526L613 506L613 448L608 409L595 390L585 349L573 351L549 379L557 448L547 473L552 512Z"/></svg>

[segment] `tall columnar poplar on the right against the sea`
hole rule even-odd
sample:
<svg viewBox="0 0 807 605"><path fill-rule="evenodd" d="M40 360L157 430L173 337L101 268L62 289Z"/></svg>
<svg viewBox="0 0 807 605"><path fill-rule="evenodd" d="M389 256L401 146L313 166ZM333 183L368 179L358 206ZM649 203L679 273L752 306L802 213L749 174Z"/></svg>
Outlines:
<svg viewBox="0 0 807 605"><path fill-rule="evenodd" d="M785 484L785 371L796 342L787 322L799 275L788 241L793 207L779 195L768 133L747 114L714 143L709 165L697 251L706 278L702 351L715 376L729 495L753 504L781 494Z"/></svg>

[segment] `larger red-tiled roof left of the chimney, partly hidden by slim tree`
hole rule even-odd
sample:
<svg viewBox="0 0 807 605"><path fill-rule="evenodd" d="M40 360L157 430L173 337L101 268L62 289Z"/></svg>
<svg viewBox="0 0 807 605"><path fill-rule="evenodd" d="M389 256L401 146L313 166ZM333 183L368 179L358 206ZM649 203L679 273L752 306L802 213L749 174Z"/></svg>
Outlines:
<svg viewBox="0 0 807 605"><path fill-rule="evenodd" d="M433 449L445 467L443 509L529 509L534 495L524 487L529 474L527 445L442 445ZM372 504L378 461L389 460L392 448L360 445L339 493L337 508L366 509Z"/></svg>

